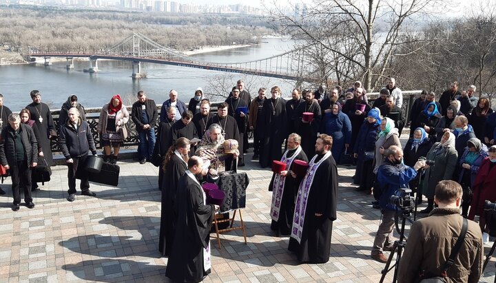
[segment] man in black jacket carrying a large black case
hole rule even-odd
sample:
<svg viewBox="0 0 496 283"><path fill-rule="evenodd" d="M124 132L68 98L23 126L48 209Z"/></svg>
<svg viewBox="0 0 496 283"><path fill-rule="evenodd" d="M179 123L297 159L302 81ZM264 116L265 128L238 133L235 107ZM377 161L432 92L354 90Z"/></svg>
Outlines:
<svg viewBox="0 0 496 283"><path fill-rule="evenodd" d="M68 116L67 122L60 131L59 146L65 157L65 163L68 165L69 196L67 200L73 202L76 197L76 175L81 178L81 195L96 196L96 193L90 191L88 174L84 168L88 151L96 156L96 147L90 125L79 118L79 111L72 107L69 109Z"/></svg>

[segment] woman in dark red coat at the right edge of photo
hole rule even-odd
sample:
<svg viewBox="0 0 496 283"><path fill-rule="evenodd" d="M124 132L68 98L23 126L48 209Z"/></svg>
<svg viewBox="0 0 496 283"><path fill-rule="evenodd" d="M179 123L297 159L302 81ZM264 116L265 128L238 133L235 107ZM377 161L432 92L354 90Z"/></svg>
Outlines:
<svg viewBox="0 0 496 283"><path fill-rule="evenodd" d="M484 237L488 238L486 232L486 218L484 213L484 201L496 202L496 145L489 147L488 157L484 158L479 167L475 181L473 182L473 197L471 211L468 219L473 220L479 216L479 226L484 232ZM484 239L485 240L485 239Z"/></svg>

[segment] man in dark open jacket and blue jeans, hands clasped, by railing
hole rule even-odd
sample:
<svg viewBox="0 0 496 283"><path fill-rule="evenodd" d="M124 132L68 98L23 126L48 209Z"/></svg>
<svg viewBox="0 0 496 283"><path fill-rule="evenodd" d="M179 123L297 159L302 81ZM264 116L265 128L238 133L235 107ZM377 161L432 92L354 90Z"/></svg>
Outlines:
<svg viewBox="0 0 496 283"><path fill-rule="evenodd" d="M152 158L155 145L155 125L158 111L155 101L146 97L145 92L138 92L138 101L133 103L131 118L138 132L138 159L145 164Z"/></svg>

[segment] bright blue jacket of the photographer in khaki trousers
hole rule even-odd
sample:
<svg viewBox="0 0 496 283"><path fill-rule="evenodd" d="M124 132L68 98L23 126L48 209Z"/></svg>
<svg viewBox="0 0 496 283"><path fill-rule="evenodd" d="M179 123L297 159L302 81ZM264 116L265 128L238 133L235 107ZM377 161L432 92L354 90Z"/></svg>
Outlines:
<svg viewBox="0 0 496 283"><path fill-rule="evenodd" d="M389 204L391 196L400 196L400 188L408 188L409 182L417 176L413 167L404 164L395 165L388 159L378 169L378 184L382 191L379 206L381 209L396 210L395 205Z"/></svg>

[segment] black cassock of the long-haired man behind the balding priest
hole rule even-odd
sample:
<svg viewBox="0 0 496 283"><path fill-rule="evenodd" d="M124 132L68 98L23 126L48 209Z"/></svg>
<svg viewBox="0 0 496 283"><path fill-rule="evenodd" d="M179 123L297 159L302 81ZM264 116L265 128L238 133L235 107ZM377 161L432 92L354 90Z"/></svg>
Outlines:
<svg viewBox="0 0 496 283"><path fill-rule="evenodd" d="M172 251L177 216L174 211L174 203L176 193L180 191L178 189L179 178L185 174L186 170L186 163L176 154L172 154L169 163L167 163L167 171L165 171L162 183L161 230L158 242L158 251L162 255L170 255Z"/></svg>

